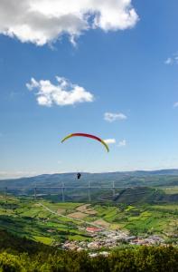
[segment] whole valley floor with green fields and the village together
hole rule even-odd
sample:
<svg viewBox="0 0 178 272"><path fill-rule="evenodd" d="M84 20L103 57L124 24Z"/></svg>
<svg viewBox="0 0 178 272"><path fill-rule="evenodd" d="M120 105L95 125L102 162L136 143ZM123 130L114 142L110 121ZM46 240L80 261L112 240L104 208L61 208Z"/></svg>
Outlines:
<svg viewBox="0 0 178 272"><path fill-rule="evenodd" d="M0 199L0 228L67 249L177 244L178 204L113 206L9 196Z"/></svg>

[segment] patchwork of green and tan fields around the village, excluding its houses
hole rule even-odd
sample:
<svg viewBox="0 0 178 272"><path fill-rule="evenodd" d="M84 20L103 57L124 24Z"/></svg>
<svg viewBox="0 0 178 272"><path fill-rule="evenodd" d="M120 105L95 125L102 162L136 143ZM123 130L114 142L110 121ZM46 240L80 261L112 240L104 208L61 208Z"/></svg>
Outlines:
<svg viewBox="0 0 178 272"><path fill-rule="evenodd" d="M91 239L86 227L97 224L121 229L131 235L159 234L172 237L178 229L178 204L115 206L82 203L52 203L8 197L0 199L0 228L48 245L66 239Z"/></svg>

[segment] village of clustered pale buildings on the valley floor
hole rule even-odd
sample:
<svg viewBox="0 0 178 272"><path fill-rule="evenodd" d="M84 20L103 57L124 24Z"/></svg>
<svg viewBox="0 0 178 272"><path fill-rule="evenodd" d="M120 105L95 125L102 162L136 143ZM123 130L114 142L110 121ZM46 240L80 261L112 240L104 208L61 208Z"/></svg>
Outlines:
<svg viewBox="0 0 178 272"><path fill-rule="evenodd" d="M164 238L159 236L149 236L147 238L141 238L136 236L128 236L124 231L111 231L103 230L101 228L86 228L86 231L89 234L89 237L92 238L92 241L80 241L80 240L67 240L62 245L63 249L70 250L90 250L95 251L102 248L116 248L122 244L129 245L163 245ZM93 253L94 254L94 253ZM103 253L102 253L103 254ZM104 251L105 255L108 255L108 252Z"/></svg>

